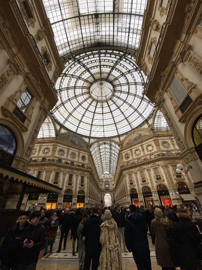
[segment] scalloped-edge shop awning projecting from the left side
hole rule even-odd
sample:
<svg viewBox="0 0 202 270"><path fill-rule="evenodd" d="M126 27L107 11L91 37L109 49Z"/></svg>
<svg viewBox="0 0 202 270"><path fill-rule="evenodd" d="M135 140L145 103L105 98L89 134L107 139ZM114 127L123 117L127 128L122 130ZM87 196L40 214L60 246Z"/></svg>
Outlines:
<svg viewBox="0 0 202 270"><path fill-rule="evenodd" d="M0 164L0 178L13 178L14 181L26 183L25 193L38 192L59 194L62 190L61 187L47 183L46 181L4 164Z"/></svg>

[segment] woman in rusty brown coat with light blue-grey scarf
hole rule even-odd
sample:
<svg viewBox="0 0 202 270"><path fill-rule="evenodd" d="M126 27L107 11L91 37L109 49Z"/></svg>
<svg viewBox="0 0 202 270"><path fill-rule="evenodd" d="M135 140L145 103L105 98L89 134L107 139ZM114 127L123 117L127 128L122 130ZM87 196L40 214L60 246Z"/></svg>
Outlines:
<svg viewBox="0 0 202 270"><path fill-rule="evenodd" d="M45 251L43 256L46 256L48 246L50 245L50 252L52 252L53 244L55 243L55 237L58 231L58 218L56 216L56 213L53 213L51 218L49 219L49 226L48 226L48 231L46 233L46 244L45 244Z"/></svg>

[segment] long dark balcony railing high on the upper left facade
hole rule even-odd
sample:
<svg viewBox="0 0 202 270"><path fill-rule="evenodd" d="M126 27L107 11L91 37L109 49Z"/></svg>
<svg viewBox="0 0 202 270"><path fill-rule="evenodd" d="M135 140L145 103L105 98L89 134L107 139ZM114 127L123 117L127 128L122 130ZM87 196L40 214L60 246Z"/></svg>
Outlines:
<svg viewBox="0 0 202 270"><path fill-rule="evenodd" d="M34 48L35 48L35 50L36 50L36 52L37 52L37 54L38 54L38 57L39 57L39 59L40 59L40 61L41 61L41 63L42 63L43 71L44 71L44 73L46 74L46 78L48 79L48 81L49 81L49 83L51 84L51 86L54 88L55 93L57 94L57 90L56 90L56 88L55 88L55 85L54 85L54 83L51 82L51 79L50 79L50 77L49 77L49 75L48 75L48 72L47 72L47 70L46 70L46 67L45 67L45 65L44 65L44 63L43 63L43 57L42 57L42 55L41 55L41 53L40 53L40 51L39 51L39 48L38 48L38 46L37 46L37 43L36 43L36 41L35 41L33 35L31 35L31 34L29 33L29 29L27 28L27 25L26 25L26 23L25 23L25 21L24 21L24 18L23 18L23 16L22 16L21 12L20 12L20 9L19 9L19 7L18 7L18 5L17 5L17 2L14 0L14 1L13 1L13 4L14 4L15 10L16 10L16 12L17 12L19 18L20 18L20 21L21 21L21 23L22 23L22 26L23 26L25 32L29 35L29 37L30 37L30 39L31 39L31 41L32 41L32 43L33 43L33 46L34 46Z"/></svg>

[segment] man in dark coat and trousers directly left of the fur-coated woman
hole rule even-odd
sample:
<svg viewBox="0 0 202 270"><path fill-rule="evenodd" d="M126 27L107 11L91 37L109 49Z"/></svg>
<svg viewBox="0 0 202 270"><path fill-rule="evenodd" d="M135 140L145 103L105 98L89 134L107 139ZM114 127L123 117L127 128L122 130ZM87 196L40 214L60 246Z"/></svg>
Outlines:
<svg viewBox="0 0 202 270"><path fill-rule="evenodd" d="M85 270L90 270L92 260L92 270L97 270L102 245L99 242L101 230L100 225L103 223L98 215L98 208L93 208L93 213L86 220L81 232L85 236Z"/></svg>

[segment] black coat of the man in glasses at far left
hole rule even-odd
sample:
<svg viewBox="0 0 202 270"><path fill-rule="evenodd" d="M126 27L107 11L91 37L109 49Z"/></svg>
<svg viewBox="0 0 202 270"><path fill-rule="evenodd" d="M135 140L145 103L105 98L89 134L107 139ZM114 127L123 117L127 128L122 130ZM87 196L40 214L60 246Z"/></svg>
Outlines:
<svg viewBox="0 0 202 270"><path fill-rule="evenodd" d="M20 262L23 253L21 238L24 234L25 228L28 226L29 222L27 221L24 228L20 230L19 223L17 223L14 230L7 233L0 248L0 260L2 265L14 267Z"/></svg>

